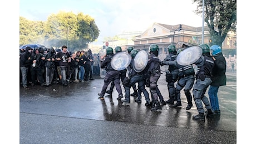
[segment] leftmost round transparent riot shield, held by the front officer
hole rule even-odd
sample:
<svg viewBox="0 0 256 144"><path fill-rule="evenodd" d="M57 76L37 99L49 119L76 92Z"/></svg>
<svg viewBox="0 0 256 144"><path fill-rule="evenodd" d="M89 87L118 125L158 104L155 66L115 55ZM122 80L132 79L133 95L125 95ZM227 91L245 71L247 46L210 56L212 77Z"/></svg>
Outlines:
<svg viewBox="0 0 256 144"><path fill-rule="evenodd" d="M124 70L131 63L131 55L126 52L118 52L111 59L111 66L115 70Z"/></svg>

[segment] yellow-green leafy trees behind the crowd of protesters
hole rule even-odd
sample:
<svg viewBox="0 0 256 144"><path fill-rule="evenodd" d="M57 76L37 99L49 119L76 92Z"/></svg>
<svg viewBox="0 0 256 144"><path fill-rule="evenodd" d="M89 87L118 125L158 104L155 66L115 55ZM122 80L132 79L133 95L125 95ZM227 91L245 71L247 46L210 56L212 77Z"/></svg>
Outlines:
<svg viewBox="0 0 256 144"><path fill-rule="evenodd" d="M19 45L39 43L56 48L67 45L68 50L74 51L87 48L99 35L95 20L83 13L61 11L51 14L46 22L19 17Z"/></svg>

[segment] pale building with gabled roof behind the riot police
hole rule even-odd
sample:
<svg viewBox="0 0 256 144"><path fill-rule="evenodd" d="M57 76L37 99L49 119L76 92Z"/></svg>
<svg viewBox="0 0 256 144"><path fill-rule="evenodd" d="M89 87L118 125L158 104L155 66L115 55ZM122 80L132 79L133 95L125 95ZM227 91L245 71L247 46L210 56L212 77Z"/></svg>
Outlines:
<svg viewBox="0 0 256 144"><path fill-rule="evenodd" d="M157 44L159 46L160 53L167 53L167 47L170 44L176 45L176 48L181 48L178 42L186 42L194 45L200 45L202 43L202 27L191 27L189 25L181 24L182 28L179 30L178 25L167 25L154 23L141 35L134 37L134 45L131 45L138 50L148 50L151 44ZM209 44L210 34L208 27L204 27L204 43ZM237 35L234 33L228 33L221 48L225 55L230 55L232 51L236 50ZM127 47L130 45L127 45ZM235 52L236 54L236 52ZM232 54L234 55L234 54Z"/></svg>

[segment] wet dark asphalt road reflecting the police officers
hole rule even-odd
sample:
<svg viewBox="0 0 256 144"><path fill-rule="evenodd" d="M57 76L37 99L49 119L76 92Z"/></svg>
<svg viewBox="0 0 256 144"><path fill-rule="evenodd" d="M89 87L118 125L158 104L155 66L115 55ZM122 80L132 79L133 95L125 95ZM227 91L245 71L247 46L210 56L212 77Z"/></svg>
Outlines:
<svg viewBox="0 0 256 144"><path fill-rule="evenodd" d="M19 142L237 143L236 73L227 72L227 78L227 85L221 86L218 93L221 115L205 121L192 120L198 111L194 101L191 110L185 110L183 90L181 108L163 105L155 112L145 106L145 97L138 104L131 96L130 105L123 106L116 100L115 88L112 97L106 94L105 100L98 99L104 84L99 76L66 87L20 86ZM168 100L165 74L158 85Z"/></svg>

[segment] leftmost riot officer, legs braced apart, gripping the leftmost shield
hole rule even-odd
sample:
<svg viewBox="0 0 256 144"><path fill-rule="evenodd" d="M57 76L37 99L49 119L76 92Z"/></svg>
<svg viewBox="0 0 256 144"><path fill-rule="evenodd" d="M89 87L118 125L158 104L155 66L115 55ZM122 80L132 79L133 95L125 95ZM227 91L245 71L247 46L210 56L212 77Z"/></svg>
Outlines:
<svg viewBox="0 0 256 144"><path fill-rule="evenodd" d="M120 71L117 71L112 68L111 66L111 59L113 58L113 48L107 47L106 48L106 56L104 60L101 62L101 68L106 69L106 76L104 78L104 85L102 86L101 92L98 94L100 99L104 99L104 95L106 93L107 86L111 83L111 81L114 81L116 91L118 92L119 96L117 97L117 100L121 100L122 97L122 89L120 85Z"/></svg>

